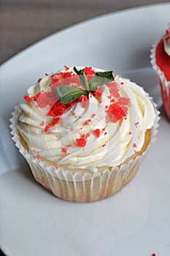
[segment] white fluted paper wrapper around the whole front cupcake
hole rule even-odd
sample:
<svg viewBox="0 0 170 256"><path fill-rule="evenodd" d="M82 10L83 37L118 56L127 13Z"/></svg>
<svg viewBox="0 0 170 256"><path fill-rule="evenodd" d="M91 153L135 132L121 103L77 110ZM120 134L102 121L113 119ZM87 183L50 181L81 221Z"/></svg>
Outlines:
<svg viewBox="0 0 170 256"><path fill-rule="evenodd" d="M153 105L156 118L155 124L151 130L150 144L155 140L155 135L158 132L159 120L159 112L156 110L155 103L153 103ZM90 173L87 171L83 174L80 171L73 173L72 169L63 170L61 167L55 168L53 165L47 165L47 162L42 162L40 159L36 159L34 154L28 154L28 151L26 151L20 143L18 129L16 128L19 116L20 107L17 106L10 119L12 123L10 126L13 135L12 140L15 141L15 145L19 148L20 153L26 158L36 181L42 184L42 186L50 192L53 192L53 195L64 200L92 202L114 195L136 176L139 165L150 148L150 146L148 146L147 150L144 151L142 155L136 157L136 159L131 159L128 164L121 165L120 168L106 167L102 173Z"/></svg>

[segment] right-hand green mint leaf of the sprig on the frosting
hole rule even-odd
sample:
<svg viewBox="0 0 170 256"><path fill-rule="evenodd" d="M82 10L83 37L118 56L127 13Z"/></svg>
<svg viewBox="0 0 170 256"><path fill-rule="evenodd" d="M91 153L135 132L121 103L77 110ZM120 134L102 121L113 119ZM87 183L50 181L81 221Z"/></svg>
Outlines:
<svg viewBox="0 0 170 256"><path fill-rule="evenodd" d="M98 86L111 83L114 79L112 71L96 72L96 75L94 75L89 82L90 91L96 91Z"/></svg>

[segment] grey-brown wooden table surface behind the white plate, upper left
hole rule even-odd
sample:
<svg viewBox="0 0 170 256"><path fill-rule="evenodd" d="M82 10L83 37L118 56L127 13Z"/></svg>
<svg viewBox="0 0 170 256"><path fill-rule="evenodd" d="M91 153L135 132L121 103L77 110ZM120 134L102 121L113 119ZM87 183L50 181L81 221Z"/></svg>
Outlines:
<svg viewBox="0 0 170 256"><path fill-rule="evenodd" d="M47 35L108 12L158 0L0 0L0 64Z"/></svg>

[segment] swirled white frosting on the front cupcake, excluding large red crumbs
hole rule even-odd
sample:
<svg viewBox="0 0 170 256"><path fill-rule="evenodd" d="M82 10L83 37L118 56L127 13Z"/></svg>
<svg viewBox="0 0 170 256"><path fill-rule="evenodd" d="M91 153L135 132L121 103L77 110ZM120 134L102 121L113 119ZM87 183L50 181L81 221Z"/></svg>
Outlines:
<svg viewBox="0 0 170 256"><path fill-rule="evenodd" d="M28 89L28 95L50 91L50 81L50 76L42 79ZM107 110L115 98L106 85L103 86L101 101L91 95L86 108L82 108L81 102L73 105L63 113L62 122L50 128L50 133L44 132L45 126L53 120L47 116L50 107L37 108L34 101L20 103L22 112L18 129L30 152L35 151L57 165L88 167L96 171L96 167L120 165L135 151L140 151L146 130L154 124L155 110L147 94L136 83L117 76L115 82L119 85L120 97L130 99L127 116L117 122L107 120ZM93 133L96 129L100 130L98 138ZM88 135L85 147L76 144L82 135Z"/></svg>

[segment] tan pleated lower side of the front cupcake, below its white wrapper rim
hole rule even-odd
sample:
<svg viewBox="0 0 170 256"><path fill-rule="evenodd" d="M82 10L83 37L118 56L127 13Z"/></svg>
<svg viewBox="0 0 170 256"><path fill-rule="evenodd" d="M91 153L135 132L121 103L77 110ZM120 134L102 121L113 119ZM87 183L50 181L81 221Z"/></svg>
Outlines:
<svg viewBox="0 0 170 256"><path fill-rule="evenodd" d="M53 192L53 195L72 202L93 202L114 195L122 189L139 170L139 164L135 164L130 171L122 172L105 171L100 176L85 181L67 181L52 176L36 163L29 162L34 178L39 184Z"/></svg>

